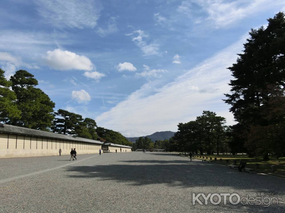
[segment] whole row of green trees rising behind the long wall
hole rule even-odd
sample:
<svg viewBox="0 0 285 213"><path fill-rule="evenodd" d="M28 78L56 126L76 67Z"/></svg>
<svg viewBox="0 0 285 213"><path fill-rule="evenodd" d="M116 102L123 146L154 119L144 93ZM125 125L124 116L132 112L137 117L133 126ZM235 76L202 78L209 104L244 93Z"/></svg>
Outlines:
<svg viewBox="0 0 285 213"><path fill-rule="evenodd" d="M18 70L10 80L0 69L0 122L64 135L93 140L106 139L111 143L132 146L121 133L97 127L95 120L59 109L41 89L38 81L26 70Z"/></svg>

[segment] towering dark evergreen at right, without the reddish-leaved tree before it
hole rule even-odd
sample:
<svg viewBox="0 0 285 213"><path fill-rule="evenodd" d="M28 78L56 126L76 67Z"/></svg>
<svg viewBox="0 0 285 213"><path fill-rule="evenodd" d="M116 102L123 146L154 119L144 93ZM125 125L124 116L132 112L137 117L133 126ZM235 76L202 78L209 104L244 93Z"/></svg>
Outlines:
<svg viewBox="0 0 285 213"><path fill-rule="evenodd" d="M267 155L268 149L257 149L261 143L255 143L257 147L253 148L247 141L253 126L268 125L268 120L262 116L263 108L270 105L268 88L280 90L285 86L284 13L269 18L267 28L252 29L249 35L243 53L238 54L237 63L228 68L234 80L229 84L231 94L225 94L225 102L231 105L230 111L242 127L233 129L239 131L233 131L234 135L241 135L236 142L244 141L252 156L261 154L260 151Z"/></svg>

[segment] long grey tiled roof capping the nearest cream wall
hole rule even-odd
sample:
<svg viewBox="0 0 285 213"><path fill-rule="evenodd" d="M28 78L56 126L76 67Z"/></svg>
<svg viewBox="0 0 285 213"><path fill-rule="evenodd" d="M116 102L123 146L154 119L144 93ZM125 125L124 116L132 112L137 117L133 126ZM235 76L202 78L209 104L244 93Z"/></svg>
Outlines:
<svg viewBox="0 0 285 213"><path fill-rule="evenodd" d="M54 139L59 139L59 140L103 144L103 142L101 141L91 140L87 138L73 137L71 135L62 135L58 133L41 131L41 130L33 130L33 129L28 129L28 128L19 127L19 126L12 126L12 125L7 125L7 124L0 124L0 133L28 135L28 136L34 136L34 137L46 137L46 138L54 138Z"/></svg>

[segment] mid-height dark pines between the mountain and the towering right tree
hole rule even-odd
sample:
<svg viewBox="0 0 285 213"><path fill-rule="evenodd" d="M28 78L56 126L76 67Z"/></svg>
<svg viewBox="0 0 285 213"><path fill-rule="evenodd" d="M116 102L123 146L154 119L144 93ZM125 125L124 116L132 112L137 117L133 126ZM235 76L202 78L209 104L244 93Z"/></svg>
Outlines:
<svg viewBox="0 0 285 213"><path fill-rule="evenodd" d="M178 131L170 139L170 151L217 154L229 152L229 127L226 119L215 112L203 111L195 121L179 123Z"/></svg>

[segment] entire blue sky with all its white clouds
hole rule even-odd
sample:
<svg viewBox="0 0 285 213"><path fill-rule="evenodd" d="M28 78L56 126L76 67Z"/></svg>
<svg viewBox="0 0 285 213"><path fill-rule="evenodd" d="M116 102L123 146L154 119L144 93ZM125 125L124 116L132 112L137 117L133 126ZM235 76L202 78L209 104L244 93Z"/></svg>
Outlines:
<svg viewBox="0 0 285 213"><path fill-rule="evenodd" d="M251 28L284 1L3 0L0 67L26 69L59 108L126 137L176 131L223 93Z"/></svg>

